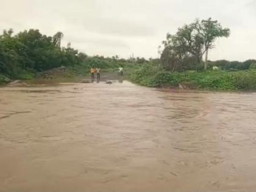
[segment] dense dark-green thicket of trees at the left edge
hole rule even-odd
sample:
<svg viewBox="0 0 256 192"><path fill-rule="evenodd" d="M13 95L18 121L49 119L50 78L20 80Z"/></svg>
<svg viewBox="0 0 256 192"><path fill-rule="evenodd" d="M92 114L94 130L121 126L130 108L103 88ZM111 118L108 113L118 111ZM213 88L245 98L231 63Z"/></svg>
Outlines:
<svg viewBox="0 0 256 192"><path fill-rule="evenodd" d="M0 35L0 73L17 78L23 71L76 65L87 55L71 48L61 48L63 34L53 37L42 35L39 30L24 30L13 35L13 30L4 30Z"/></svg>

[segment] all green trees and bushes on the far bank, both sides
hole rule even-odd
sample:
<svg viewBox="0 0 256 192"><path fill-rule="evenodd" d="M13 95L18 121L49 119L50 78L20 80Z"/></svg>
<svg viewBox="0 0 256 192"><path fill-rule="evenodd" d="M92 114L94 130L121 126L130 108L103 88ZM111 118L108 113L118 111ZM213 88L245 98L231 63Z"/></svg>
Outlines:
<svg viewBox="0 0 256 192"><path fill-rule="evenodd" d="M119 59L118 55L90 57L71 43L62 47L62 32L52 37L39 30L24 30L0 35L0 83L10 79L29 80L77 78L88 76L91 67L99 67L108 76L117 76L123 66L133 82L148 87L180 87L207 90L256 89L256 60L245 62L208 60L208 50L215 40L229 37L230 30L218 21L196 20L166 35L160 59ZM202 57L205 55L205 62ZM213 67L216 69L212 70ZM218 67L218 68L217 68Z"/></svg>

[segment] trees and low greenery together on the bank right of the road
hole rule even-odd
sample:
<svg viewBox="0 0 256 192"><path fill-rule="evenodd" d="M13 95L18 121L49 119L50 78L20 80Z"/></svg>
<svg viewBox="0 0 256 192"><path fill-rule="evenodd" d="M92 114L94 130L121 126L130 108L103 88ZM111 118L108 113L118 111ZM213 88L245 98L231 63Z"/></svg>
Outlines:
<svg viewBox="0 0 256 192"><path fill-rule="evenodd" d="M144 65L132 74L133 82L148 87L194 88L206 90L256 89L256 61L229 62L207 60L208 49L216 38L229 37L230 30L218 21L196 20L179 28L175 35L167 34L160 51L161 62ZM202 56L205 55L205 62ZM216 71L211 70L218 67Z"/></svg>

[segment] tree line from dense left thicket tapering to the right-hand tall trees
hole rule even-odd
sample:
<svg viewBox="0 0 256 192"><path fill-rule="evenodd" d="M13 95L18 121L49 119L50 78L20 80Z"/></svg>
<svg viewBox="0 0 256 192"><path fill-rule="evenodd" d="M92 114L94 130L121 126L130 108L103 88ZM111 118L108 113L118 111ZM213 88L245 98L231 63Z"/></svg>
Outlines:
<svg viewBox="0 0 256 192"><path fill-rule="evenodd" d="M23 74L35 74L60 66L82 65L84 68L117 68L120 65L158 63L157 59L144 58L119 59L118 55L104 57L88 55L71 48L68 43L62 47L62 32L49 37L39 30L24 30L13 35L13 30L0 34L0 74L11 79L20 79Z"/></svg>

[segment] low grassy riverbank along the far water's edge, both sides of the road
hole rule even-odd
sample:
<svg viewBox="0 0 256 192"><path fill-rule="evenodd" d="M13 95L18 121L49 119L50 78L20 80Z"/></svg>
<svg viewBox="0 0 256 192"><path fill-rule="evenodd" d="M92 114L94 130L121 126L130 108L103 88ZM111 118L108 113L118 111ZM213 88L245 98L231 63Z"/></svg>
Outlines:
<svg viewBox="0 0 256 192"><path fill-rule="evenodd" d="M37 74L23 74L20 80L31 84L60 82L88 82L89 69L84 66L54 68ZM101 71L101 80L119 79L117 68ZM123 80L145 87L196 89L196 90L256 90L256 70L245 71L186 71L183 73L163 71L157 65L130 65L124 69ZM0 84L13 82L0 74Z"/></svg>

